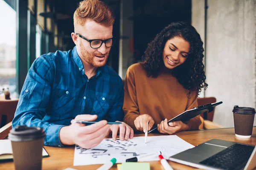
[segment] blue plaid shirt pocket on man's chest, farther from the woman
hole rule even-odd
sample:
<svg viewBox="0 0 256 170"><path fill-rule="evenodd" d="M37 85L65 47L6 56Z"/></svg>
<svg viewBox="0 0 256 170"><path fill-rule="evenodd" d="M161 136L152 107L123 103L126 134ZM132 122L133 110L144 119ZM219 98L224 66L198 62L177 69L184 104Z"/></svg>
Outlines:
<svg viewBox="0 0 256 170"><path fill-rule="evenodd" d="M58 117L59 120L72 117L76 93L74 91L56 88L53 94L52 112L56 114L52 116Z"/></svg>

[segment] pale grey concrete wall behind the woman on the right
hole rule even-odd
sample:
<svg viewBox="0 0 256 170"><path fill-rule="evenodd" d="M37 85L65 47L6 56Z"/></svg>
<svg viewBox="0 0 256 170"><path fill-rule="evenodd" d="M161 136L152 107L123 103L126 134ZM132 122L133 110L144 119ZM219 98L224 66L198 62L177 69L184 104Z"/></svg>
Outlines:
<svg viewBox="0 0 256 170"><path fill-rule="evenodd" d="M204 0L192 0L192 25L202 37L203 14ZM233 127L234 105L256 108L256 0L208 0L206 76L205 96L223 101L213 122Z"/></svg>

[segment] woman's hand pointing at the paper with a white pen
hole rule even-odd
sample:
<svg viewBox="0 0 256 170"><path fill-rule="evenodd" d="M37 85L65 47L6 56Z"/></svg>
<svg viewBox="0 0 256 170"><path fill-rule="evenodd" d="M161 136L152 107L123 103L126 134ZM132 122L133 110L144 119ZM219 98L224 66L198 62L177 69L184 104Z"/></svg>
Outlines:
<svg viewBox="0 0 256 170"><path fill-rule="evenodd" d="M154 125L153 118L148 114L140 115L134 120L134 125L136 129L139 131L143 131L144 133L146 132L147 124L148 124L148 130L150 130Z"/></svg>

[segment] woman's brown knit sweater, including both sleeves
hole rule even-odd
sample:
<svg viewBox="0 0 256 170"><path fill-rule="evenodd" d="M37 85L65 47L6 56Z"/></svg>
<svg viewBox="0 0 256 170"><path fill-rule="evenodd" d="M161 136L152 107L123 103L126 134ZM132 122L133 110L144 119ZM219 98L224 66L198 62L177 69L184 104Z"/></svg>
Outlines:
<svg viewBox="0 0 256 170"><path fill-rule="evenodd" d="M154 119L154 127L164 119L172 119L180 113L198 106L197 94L188 90L172 76L170 70L160 71L157 78L147 77L141 63L128 68L125 77L124 122L135 131L134 120L148 114ZM198 129L201 124L199 116L185 122L189 130Z"/></svg>

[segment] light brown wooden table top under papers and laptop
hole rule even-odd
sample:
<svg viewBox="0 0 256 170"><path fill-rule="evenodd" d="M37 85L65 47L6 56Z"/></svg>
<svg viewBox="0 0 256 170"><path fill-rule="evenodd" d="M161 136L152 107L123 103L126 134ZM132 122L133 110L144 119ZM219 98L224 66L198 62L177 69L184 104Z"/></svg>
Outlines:
<svg viewBox="0 0 256 170"><path fill-rule="evenodd" d="M148 133L148 136L160 136L157 133ZM176 133L181 139L189 142L190 144L196 146L210 139L223 139L232 142L240 142L244 144L256 145L256 127L253 127L252 137L249 139L242 139L235 136L234 128L224 128L224 129L212 129L212 130L194 130L194 131L184 131ZM144 136L144 134L136 134L135 136ZM74 147L44 147L49 153L49 157L43 158L43 170L63 170L67 167L72 167L77 170L95 170L101 165L87 165L87 166L73 166L74 161ZM183 164L178 164L176 162L168 161L174 170L192 170L196 169ZM163 170L160 161L150 161L151 170ZM3 162L0 163L1 170L13 170L13 162ZM111 168L111 170L116 170L116 164Z"/></svg>

